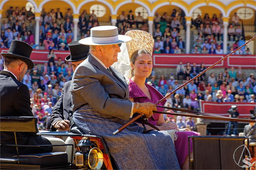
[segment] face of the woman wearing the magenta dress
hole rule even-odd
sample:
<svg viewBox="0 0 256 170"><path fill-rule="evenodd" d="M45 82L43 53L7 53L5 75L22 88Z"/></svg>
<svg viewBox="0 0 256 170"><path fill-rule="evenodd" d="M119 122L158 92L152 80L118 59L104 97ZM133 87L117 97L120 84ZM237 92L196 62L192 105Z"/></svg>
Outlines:
<svg viewBox="0 0 256 170"><path fill-rule="evenodd" d="M149 54L139 55L134 64L131 63L131 67L134 71L134 74L139 77L148 77L151 74L153 64L152 57Z"/></svg>

